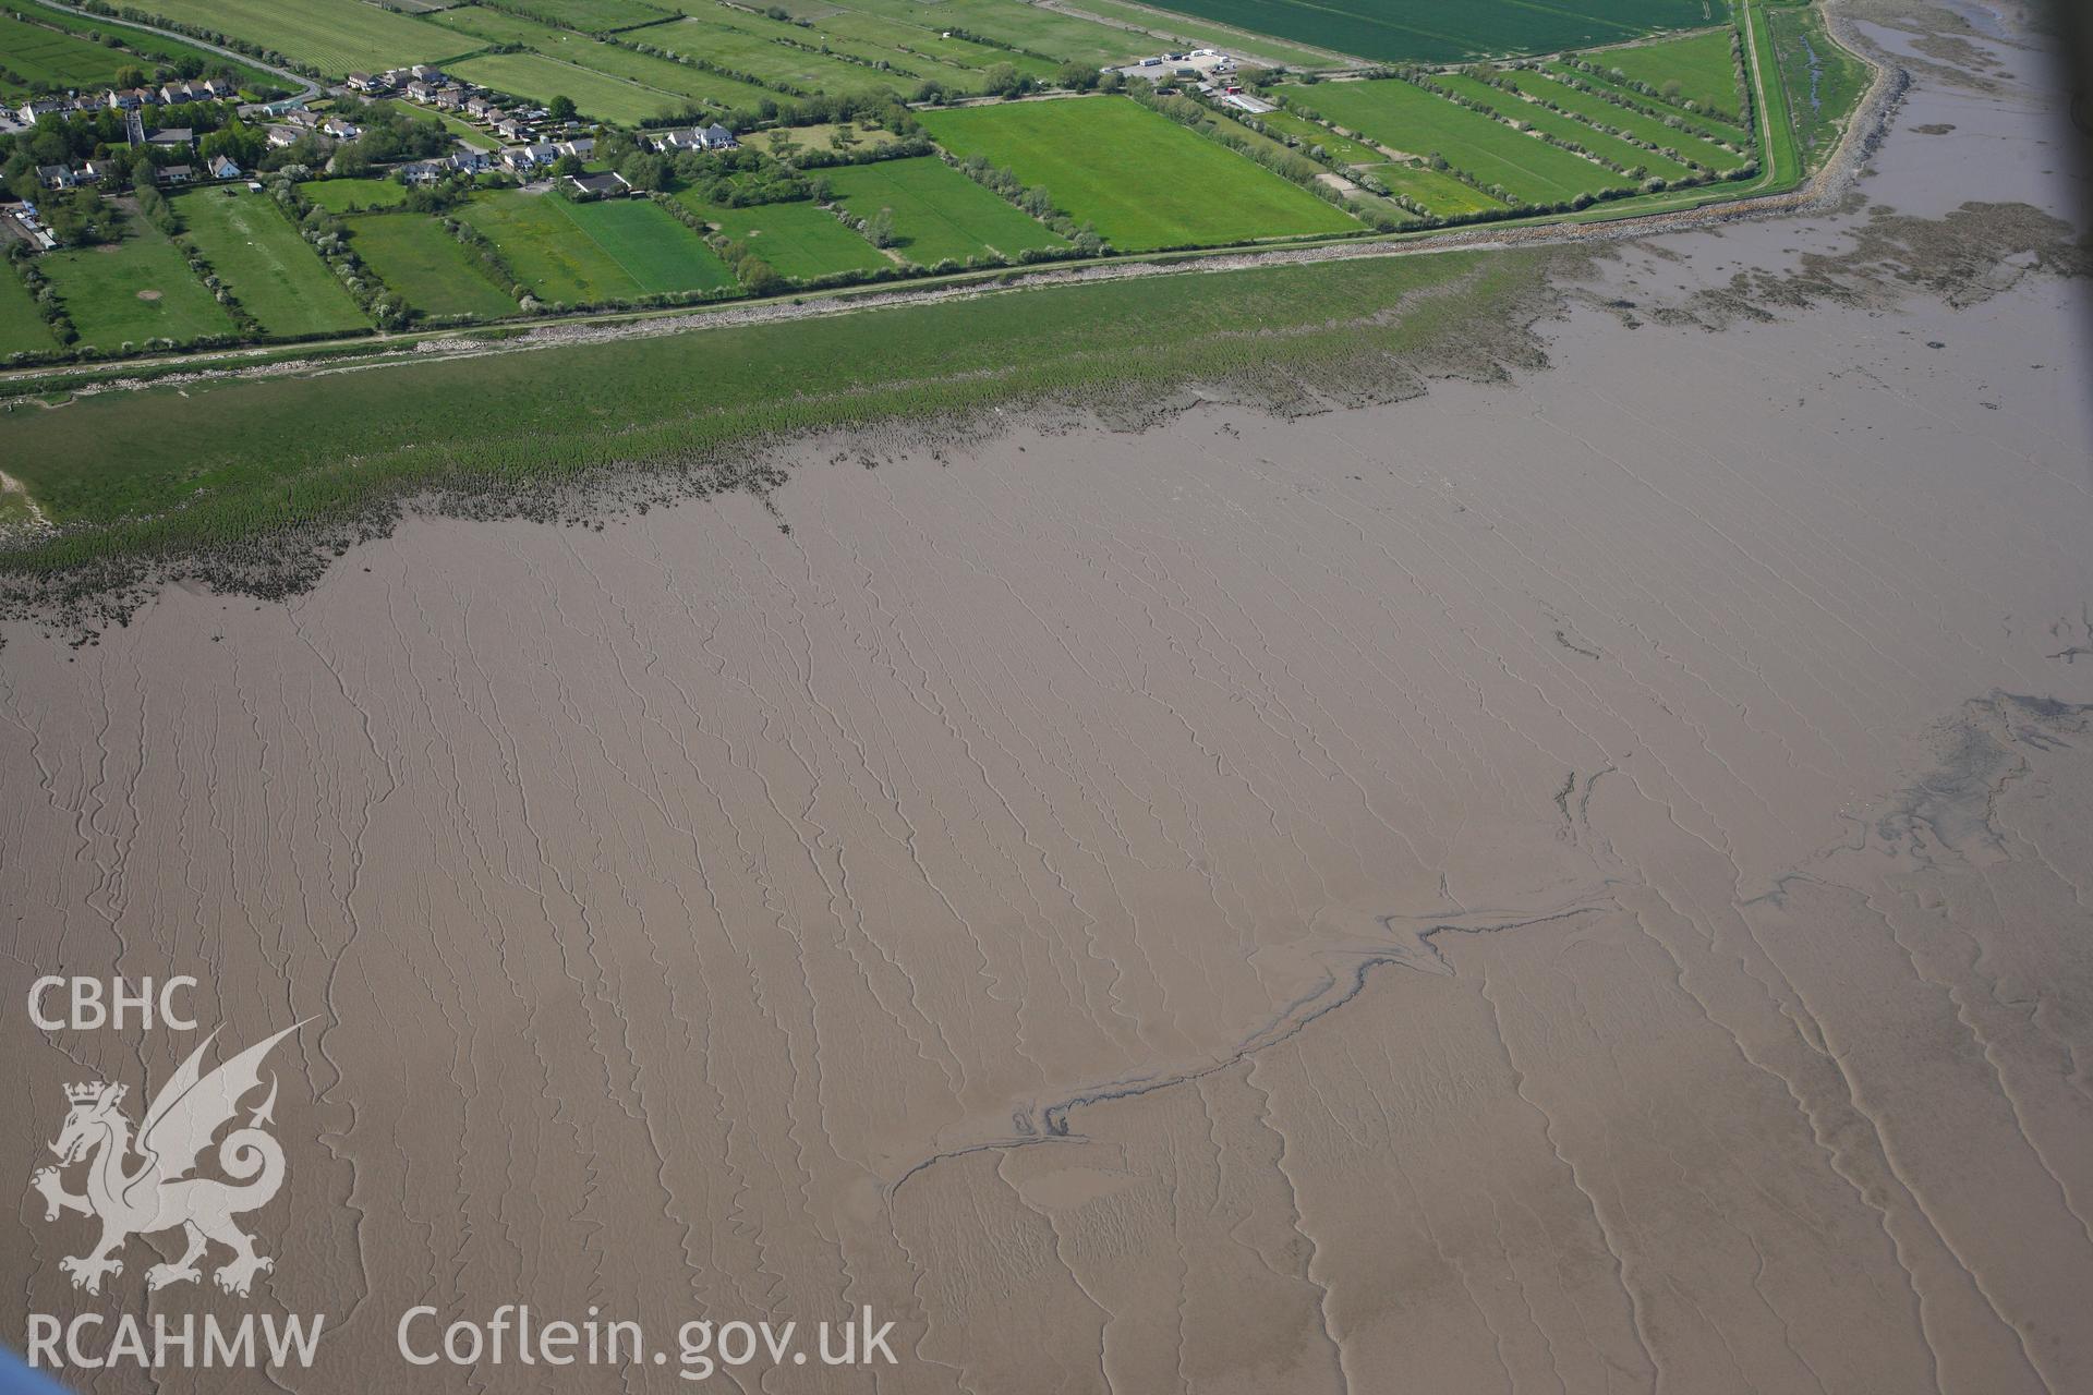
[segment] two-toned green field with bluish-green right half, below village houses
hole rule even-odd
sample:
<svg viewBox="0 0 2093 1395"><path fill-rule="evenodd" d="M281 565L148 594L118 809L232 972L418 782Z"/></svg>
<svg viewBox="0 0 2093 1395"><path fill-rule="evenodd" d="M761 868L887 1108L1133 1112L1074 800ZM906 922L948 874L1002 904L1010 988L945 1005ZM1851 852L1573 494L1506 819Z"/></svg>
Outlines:
<svg viewBox="0 0 2093 1395"><path fill-rule="evenodd" d="M733 284L726 264L697 234L645 199L567 203L492 190L475 195L460 215L540 301L594 303Z"/></svg>

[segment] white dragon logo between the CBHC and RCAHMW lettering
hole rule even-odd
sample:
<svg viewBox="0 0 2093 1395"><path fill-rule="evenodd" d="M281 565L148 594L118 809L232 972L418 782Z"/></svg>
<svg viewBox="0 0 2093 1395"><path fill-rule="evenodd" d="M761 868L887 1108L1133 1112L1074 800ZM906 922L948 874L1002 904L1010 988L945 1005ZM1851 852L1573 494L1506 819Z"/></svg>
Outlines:
<svg viewBox="0 0 2093 1395"><path fill-rule="evenodd" d="M149 1288L201 1278L197 1259L211 1240L232 1251L232 1259L211 1276L226 1293L247 1297L255 1274L276 1267L276 1261L257 1255L253 1238L232 1224L234 1215L268 1205L283 1186L283 1144L262 1131L264 1123L274 1123L274 1077L268 1098L253 1111L247 1127L232 1129L218 1144L218 1165L232 1182L190 1173L218 1129L234 1119L239 1102L262 1085L262 1058L268 1050L303 1025L285 1027L199 1079L197 1060L218 1037L213 1031L153 1096L144 1123L138 1125L136 1144L132 1123L119 1108L123 1085L92 1081L65 1088L71 1111L65 1115L59 1140L50 1144L59 1165L38 1169L31 1186L44 1194L46 1221L59 1219L61 1211L103 1221L103 1238L90 1253L59 1261L59 1267L71 1274L75 1288L100 1293L105 1274L123 1274L119 1251L134 1234L176 1226L188 1236L188 1249L174 1263L147 1270ZM126 1171L132 1154L140 1161ZM88 1190L75 1196L65 1190L63 1171L90 1157Z"/></svg>

